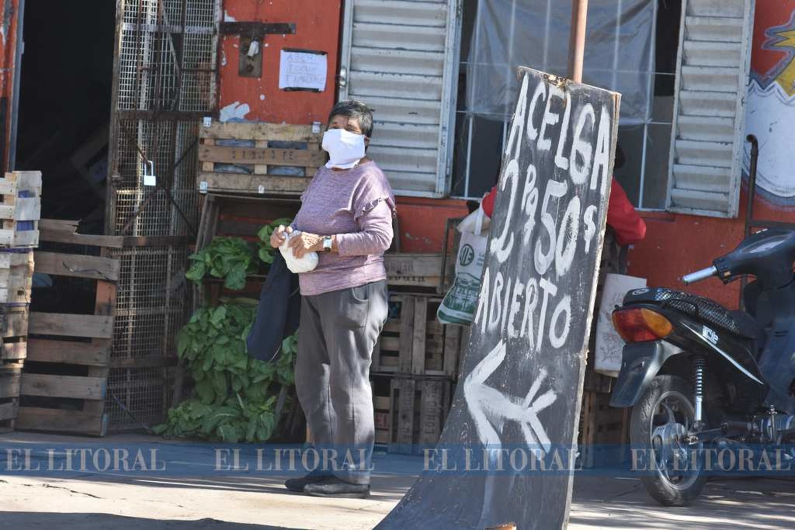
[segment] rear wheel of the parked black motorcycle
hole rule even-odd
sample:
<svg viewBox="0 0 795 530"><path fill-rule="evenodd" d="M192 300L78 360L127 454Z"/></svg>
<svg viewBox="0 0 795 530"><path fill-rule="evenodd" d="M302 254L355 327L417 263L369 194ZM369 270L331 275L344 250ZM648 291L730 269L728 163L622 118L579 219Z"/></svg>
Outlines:
<svg viewBox="0 0 795 530"><path fill-rule="evenodd" d="M641 482L661 505L689 505L707 482L699 447L684 439L696 416L692 395L681 377L658 375L632 408L630 442L648 464Z"/></svg>

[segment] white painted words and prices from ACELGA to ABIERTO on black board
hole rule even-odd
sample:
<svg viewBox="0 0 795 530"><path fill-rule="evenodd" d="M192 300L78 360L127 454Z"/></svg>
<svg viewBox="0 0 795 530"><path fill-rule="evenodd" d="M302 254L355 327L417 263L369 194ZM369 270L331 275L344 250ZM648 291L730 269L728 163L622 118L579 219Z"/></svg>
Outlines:
<svg viewBox="0 0 795 530"><path fill-rule="evenodd" d="M557 284L570 272L577 246L584 254L595 247L597 207L583 207L579 188L598 190L602 199L607 195L612 122L607 105L595 109L585 103L572 110L568 91L556 85L537 83L528 100L530 82L531 76L525 75L506 145L507 164L499 184L500 193L510 195L506 219L517 219L518 215L523 218L521 238L515 224L506 222L489 246L490 257L498 263L505 262L511 253L520 253L528 266L514 271L514 277L505 277L502 271L492 274L486 269L475 326L482 333L498 332L526 339L530 350L539 351L545 344L560 349L568 339L572 296L558 296ZM560 108L553 108L554 99L560 100L562 116ZM567 143L572 120L572 140ZM558 122L554 165L561 170L556 172L560 180L549 178L542 191L537 184L536 164L528 164L522 178L519 160L522 149L534 149L541 157L549 152L554 139L550 137L551 126Z"/></svg>

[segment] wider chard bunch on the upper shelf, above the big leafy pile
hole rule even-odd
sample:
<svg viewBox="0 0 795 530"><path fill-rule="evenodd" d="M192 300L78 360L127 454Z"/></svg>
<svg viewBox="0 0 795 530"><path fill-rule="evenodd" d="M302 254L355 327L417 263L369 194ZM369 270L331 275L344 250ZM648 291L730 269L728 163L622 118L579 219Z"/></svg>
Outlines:
<svg viewBox="0 0 795 530"><path fill-rule="evenodd" d="M246 287L246 276L257 272L254 251L242 238L216 237L207 247L188 257L191 267L188 280L199 283L209 274L223 278L224 286L233 291Z"/></svg>

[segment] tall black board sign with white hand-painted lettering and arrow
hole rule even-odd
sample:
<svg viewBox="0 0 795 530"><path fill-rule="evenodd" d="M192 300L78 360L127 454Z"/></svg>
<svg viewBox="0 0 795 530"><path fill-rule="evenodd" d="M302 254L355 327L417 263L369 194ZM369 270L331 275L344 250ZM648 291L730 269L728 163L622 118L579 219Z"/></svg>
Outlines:
<svg viewBox="0 0 795 530"><path fill-rule="evenodd" d="M483 287L440 443L378 528L561 528L620 95L521 68Z"/></svg>

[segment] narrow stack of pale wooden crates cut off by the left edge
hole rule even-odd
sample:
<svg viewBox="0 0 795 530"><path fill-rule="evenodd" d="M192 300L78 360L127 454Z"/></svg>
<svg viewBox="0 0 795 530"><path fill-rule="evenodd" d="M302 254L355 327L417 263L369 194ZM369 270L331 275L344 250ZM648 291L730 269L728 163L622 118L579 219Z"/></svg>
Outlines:
<svg viewBox="0 0 795 530"><path fill-rule="evenodd" d="M27 355L33 249L39 244L41 172L0 179L0 430L14 428Z"/></svg>

